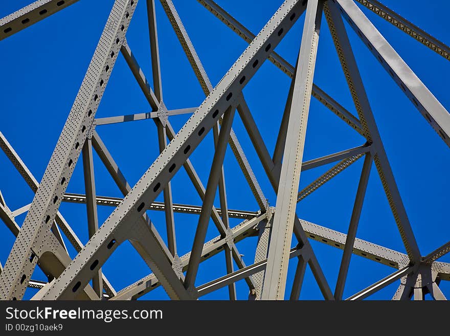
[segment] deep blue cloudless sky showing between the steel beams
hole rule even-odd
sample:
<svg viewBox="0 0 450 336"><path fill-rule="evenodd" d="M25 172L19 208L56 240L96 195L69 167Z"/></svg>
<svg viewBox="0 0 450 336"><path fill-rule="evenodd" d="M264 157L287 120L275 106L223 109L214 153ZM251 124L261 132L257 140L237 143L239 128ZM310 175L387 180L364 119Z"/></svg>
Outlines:
<svg viewBox="0 0 450 336"><path fill-rule="evenodd" d="M0 6L0 17L30 3L31 0L3 2ZM80 0L38 24L0 41L2 55L0 72L3 78L0 84L0 101L3 107L0 130L38 181L50 160L113 3L113 0L95 2ZM164 102L169 109L198 106L205 96L164 10L159 1L155 3ZM282 1L228 0L217 3L256 34ZM446 15L450 5L447 2L443 0L428 2L426 6L418 0L408 2L384 0L383 3L444 43L450 43ZM217 84L246 48L247 43L196 1L174 0L174 4L212 84ZM447 79L450 77L450 63L366 8L362 10L448 109L450 97ZM292 64L297 59L303 21L304 15L276 49ZM450 240L447 205L450 182L446 174L446 168L450 164L448 148L361 40L352 30L348 29L348 33L403 203L421 254L426 255ZM152 82L148 26L143 0L138 3L127 33L127 40L146 77ZM271 153L275 146L289 83L290 80L285 74L266 61L243 91ZM356 114L324 17L314 83ZM97 117L148 111L150 106L123 57L119 56L97 111ZM175 130L178 130L188 117L174 116L170 118L170 122ZM311 99L307 127L304 160L318 158L365 142L358 133L314 98ZM233 129L252 164L264 194L271 205L275 206L276 195L265 177L237 114ZM98 126L96 130L130 185L139 180L158 156L156 128L151 120ZM213 140L210 132L191 155L194 167L204 185L208 180L212 155ZM122 196L96 154L94 159L97 194ZM362 163L363 160L359 160L301 201L297 207L300 218L346 232ZM300 188L307 186L331 166L332 164L302 173ZM15 210L30 203L33 198L32 191L3 153L0 153L0 167L2 171L0 190L10 209ZM226 154L224 167L229 208L256 211L257 203L230 148ZM201 204L183 169L175 175L172 189L175 203ZM84 193L81 161L75 169L67 191ZM158 200L162 200L162 195ZM215 205L219 206L218 197ZM108 207L98 207L99 221L103 222L112 210ZM60 211L85 243L88 239L85 207L62 204ZM164 213L149 211L148 214L161 235L166 238ZM24 218L25 215L16 218L19 225ZM175 214L179 255L191 250L197 221L198 217L195 215ZM238 223L238 219L231 219L232 226ZM0 232L2 232L0 261L4 264L14 243L14 237L6 227L0 227ZM211 221L207 239L216 235L217 230ZM374 166L371 170L357 237L404 252ZM256 241L256 237L250 237L237 244L246 264L253 263ZM311 244L330 287L334 289L342 251L315 241ZM69 247L70 243L66 242L66 245ZM72 257L75 255L72 248L69 248L69 252ZM450 256L443 257L442 261L450 262ZM295 266L296 262L291 261L286 286L287 297ZM103 271L117 290L150 273L144 261L128 242L116 250L103 266ZM393 268L353 256L344 297L356 293L393 271ZM196 284L200 285L225 273L225 260L223 254L219 254L201 263ZM38 268L33 278L45 280ZM390 299L396 286L397 284L390 285L371 298ZM444 294L450 296L450 284L442 282L441 287ZM30 298L34 293L35 291L29 288L25 297ZM248 287L244 281L237 283L237 293L239 299L247 297ZM204 299L227 297L228 291L223 288L205 296ZM143 299L166 298L162 287L143 297ZM319 288L307 268L301 299L321 298Z"/></svg>

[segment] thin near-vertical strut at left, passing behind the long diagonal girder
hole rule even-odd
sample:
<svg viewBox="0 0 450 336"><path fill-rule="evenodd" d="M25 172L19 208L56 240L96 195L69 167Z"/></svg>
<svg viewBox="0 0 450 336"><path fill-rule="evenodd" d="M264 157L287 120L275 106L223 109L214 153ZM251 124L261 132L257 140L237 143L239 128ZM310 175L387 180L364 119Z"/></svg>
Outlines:
<svg viewBox="0 0 450 336"><path fill-rule="evenodd" d="M91 238L98 230L97 201L95 191L94 156L92 154L92 140L89 136L82 150L84 189L86 191L87 231ZM102 269L92 278L92 288L101 299L103 297Z"/></svg>

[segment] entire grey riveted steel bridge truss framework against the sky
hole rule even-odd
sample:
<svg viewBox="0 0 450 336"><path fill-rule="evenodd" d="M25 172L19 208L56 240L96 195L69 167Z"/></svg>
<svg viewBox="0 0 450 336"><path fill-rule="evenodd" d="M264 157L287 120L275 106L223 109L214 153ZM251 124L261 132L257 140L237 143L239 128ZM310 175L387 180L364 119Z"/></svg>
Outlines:
<svg viewBox="0 0 450 336"><path fill-rule="evenodd" d="M76 2L77 0L36 1L0 19L0 39L7 38ZM442 280L450 280L450 264L438 262L436 259L450 251L450 242L427 256L422 256L419 252L352 53L344 20L348 21L350 27L413 102L425 120L436 130L442 140L450 145L450 115L447 110L392 49L353 0L286 0L256 36L212 0L198 0L198 2L249 43L249 47L227 74L213 87L172 1L161 0L206 95L206 99L200 106L168 110L164 105L154 0L147 0L146 4L153 87L147 82L125 37L138 0L116 0L40 184L6 138L0 134L2 149L35 192L30 205L15 211L8 208L3 196L0 197L0 216L17 237L4 268L0 267L2 271L0 298L19 300L24 295L26 287L30 286L40 289L33 299L130 300L137 299L162 285L171 299L191 300L228 286L230 299L234 300L236 299L235 282L245 279L249 286L249 299L284 299L288 260L297 258L290 299L299 298L305 268L308 264L324 298L341 300L350 258L352 254L357 254L391 266L396 271L347 300L364 299L399 279L401 284L393 299L411 299L413 295L415 299L423 299L427 293L430 293L434 299L445 299L439 283ZM389 8L375 0L357 0L357 2L442 57L450 59L449 48L445 44ZM322 12L325 13L335 49L338 51L357 117L312 82ZM273 50L303 14L305 15L303 35L298 61L294 66ZM152 111L96 119L98 105L119 53L129 65ZM266 59L273 62L292 79L273 155L269 154L242 95L243 87ZM311 95L365 137L367 142L362 146L302 162ZM233 132L232 123L236 110L249 133L265 173L277 192L275 207L268 206L251 165ZM178 114L192 115L185 125L175 132L169 117ZM131 187L95 128L110 123L142 119L152 119L155 122L161 154L139 182ZM215 152L205 187L200 182L189 156L211 129L214 134ZM289 145L285 146L285 144ZM257 211L228 209L222 165L228 145L236 156L259 205ZM124 198L96 195L93 148ZM66 186L80 154L83 157L85 195L66 193ZM347 234L302 220L297 216L296 204L299 201L363 158L363 169ZM301 171L332 162L337 164L308 187L299 191ZM383 183L407 254L355 237L372 162L375 163ZM188 173L202 199L201 206L173 204L170 181L177 170L182 168ZM220 197L219 209L214 207L217 189ZM160 193L164 194L163 203L154 201ZM86 204L90 239L85 245L81 243L69 223L58 211L61 201ZM97 205L115 207L100 227L97 219ZM161 238L147 216L146 210L165 212L167 241ZM27 212L27 215L24 223L19 227L15 217L24 212ZM199 215L192 251L183 256L177 254L174 212ZM205 242L210 218L217 227L219 235ZM229 218L240 218L242 222L231 228ZM60 232L68 238L78 252L73 260L68 254ZM299 241L293 249L291 248L292 234ZM240 258L236 243L255 235L258 236L255 262L247 266ZM324 277L308 238L344 250L334 293ZM116 292L102 273L101 266L125 240L131 242L153 273ZM222 252L226 256L227 275L195 286L199 263ZM238 270L234 269L234 262L238 265ZM36 265L48 276L49 282L31 279ZM91 279L92 286L89 283Z"/></svg>

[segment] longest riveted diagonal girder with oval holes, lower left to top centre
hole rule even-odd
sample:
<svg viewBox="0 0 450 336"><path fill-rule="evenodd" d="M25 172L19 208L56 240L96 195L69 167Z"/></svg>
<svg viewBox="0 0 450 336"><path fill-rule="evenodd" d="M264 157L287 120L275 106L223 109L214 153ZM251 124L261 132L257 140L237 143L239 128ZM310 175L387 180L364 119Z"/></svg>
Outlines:
<svg viewBox="0 0 450 336"><path fill-rule="evenodd" d="M138 219L205 138L226 108L235 102L236 95L239 95L245 84L254 76L271 49L276 48L284 34L294 24L294 14L298 13L300 4L299 0L285 0L210 95L179 130L176 137L105 220L77 258L49 286L46 295L43 296L44 299L70 299L76 296L78 288L86 284L93 276L89 266L96 260L101 266L125 239L138 240L144 247L144 252L151 254L154 251L158 253L155 256L158 257L158 261L164 261L162 257L160 258L161 251L154 249L149 229L142 226ZM233 95L234 98L232 98ZM234 246L233 251L235 251ZM161 263L161 266L165 264L165 262ZM159 280L168 294L178 299L191 298L189 293L183 290L183 286L183 289L179 287L172 273L161 274L161 276L164 275L167 275L166 281L163 283L161 279ZM156 276L160 277L160 275Z"/></svg>

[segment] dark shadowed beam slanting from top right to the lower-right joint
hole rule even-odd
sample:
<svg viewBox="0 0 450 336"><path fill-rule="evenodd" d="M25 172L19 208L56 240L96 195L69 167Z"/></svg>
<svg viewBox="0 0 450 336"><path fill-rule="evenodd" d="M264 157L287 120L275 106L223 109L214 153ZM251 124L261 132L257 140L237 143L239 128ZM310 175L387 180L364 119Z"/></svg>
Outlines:
<svg viewBox="0 0 450 336"><path fill-rule="evenodd" d="M346 1L337 1L339 4L345 4L346 8L352 8L352 11L354 12L359 11L353 1L351 1L351 4L350 2ZM392 173L392 169L389 164L383 142L381 142L375 118L373 117L369 99L364 88L363 80L361 78L361 75L359 74L358 66L356 64L356 60L350 46L350 41L348 39L344 23L337 5L338 3L335 3L332 0L325 6L325 16L328 21L331 36L333 37L334 46L336 48L336 51L338 51L338 56L344 70L350 92L352 94L359 120L361 120L361 123L363 125L366 138L369 142L373 142L375 151L375 165L378 170L378 174L380 175L381 182L383 183L386 195L388 197L389 205L391 206L391 210L397 223L398 230L400 231L403 244L405 245L411 260L417 262L421 257L419 247L417 245L416 238L414 237L414 233L411 228L411 223L408 219L408 215L406 213L406 210L404 209L400 193L395 183L394 175ZM353 8L352 4L356 6L356 9ZM362 13L358 15L358 18L358 24L362 21L365 23L365 19L367 20L367 18ZM372 28L370 34L379 34L373 26L371 27Z"/></svg>

